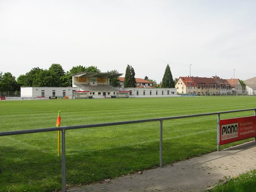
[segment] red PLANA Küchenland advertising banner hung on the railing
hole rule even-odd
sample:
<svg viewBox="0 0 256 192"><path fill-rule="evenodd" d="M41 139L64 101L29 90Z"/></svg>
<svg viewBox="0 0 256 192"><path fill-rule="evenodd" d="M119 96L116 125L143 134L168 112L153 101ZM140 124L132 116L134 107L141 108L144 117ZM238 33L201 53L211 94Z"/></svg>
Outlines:
<svg viewBox="0 0 256 192"><path fill-rule="evenodd" d="M219 145L256 137L256 116L220 120Z"/></svg>

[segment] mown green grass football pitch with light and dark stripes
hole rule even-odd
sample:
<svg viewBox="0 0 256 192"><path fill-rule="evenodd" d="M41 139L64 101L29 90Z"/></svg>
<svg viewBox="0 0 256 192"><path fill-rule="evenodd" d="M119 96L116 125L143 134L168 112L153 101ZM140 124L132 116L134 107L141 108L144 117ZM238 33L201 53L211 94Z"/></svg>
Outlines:
<svg viewBox="0 0 256 192"><path fill-rule="evenodd" d="M1 101L0 132L255 108L256 97ZM221 119L253 115L223 114ZM163 122L163 162L216 150L216 116ZM241 142L240 142L241 143ZM226 148L226 145L221 148ZM0 137L0 191L61 189L57 132ZM159 163L159 123L66 131L67 183L93 183Z"/></svg>

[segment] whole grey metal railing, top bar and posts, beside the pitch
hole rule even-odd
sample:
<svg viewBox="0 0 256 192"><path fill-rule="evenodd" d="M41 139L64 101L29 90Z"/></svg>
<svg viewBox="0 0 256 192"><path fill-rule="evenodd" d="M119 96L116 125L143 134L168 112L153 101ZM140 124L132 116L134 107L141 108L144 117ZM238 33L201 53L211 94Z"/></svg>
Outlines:
<svg viewBox="0 0 256 192"><path fill-rule="evenodd" d="M159 166L162 168L163 167L163 120L218 115L218 119L217 119L217 151L219 151L220 114L236 113L236 112L244 112L244 111L254 111L254 115L256 116L256 108L251 108L251 109L242 109L242 110L233 110L233 111L202 113L202 114L192 114L192 115L173 116L173 117L159 117L159 118L153 118L153 119L131 120L131 121L122 121L122 122L61 126L61 127L41 128L41 129L32 129L32 130L6 131L6 132L0 132L0 136L20 135L20 134L29 134L29 133L42 133L42 132L49 132L49 131L61 131L61 134L62 134L62 138L61 138L61 141L62 141L62 192L66 192L66 153L65 153L66 130L159 121L159 123L160 123L159 124ZM255 139L256 138L254 138L254 140Z"/></svg>

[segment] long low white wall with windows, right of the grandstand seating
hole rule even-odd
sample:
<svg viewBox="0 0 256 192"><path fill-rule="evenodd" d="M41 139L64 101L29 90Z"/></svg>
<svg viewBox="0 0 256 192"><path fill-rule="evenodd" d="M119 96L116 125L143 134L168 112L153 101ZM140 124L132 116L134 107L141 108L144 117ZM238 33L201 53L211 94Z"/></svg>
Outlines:
<svg viewBox="0 0 256 192"><path fill-rule="evenodd" d="M176 88L122 88L122 91L132 91L130 97L135 98L145 98L145 97L177 97L177 89ZM137 95L137 91L139 91L139 95ZM143 94L145 91L145 95ZM150 95L151 91L151 95ZM157 94L156 94L157 91ZM162 95L163 91L163 95ZM169 94L168 94L169 91Z"/></svg>

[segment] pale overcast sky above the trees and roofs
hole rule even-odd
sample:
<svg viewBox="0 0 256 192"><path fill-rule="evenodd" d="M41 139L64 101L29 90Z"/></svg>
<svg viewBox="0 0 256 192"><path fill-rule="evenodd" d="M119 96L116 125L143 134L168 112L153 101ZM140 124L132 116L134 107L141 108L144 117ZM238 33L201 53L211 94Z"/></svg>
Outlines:
<svg viewBox="0 0 256 192"><path fill-rule="evenodd" d="M0 71L95 65L160 82L256 76L255 0L0 0Z"/></svg>

